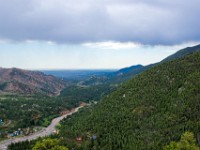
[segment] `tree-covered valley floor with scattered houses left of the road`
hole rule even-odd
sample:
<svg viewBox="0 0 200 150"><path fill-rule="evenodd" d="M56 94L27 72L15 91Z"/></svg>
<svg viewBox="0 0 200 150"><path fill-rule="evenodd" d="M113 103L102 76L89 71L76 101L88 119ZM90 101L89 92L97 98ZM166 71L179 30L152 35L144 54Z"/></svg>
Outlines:
<svg viewBox="0 0 200 150"><path fill-rule="evenodd" d="M62 97L4 96L0 97L0 141L18 129L23 135L34 127L46 127L51 120L78 106L80 101Z"/></svg>

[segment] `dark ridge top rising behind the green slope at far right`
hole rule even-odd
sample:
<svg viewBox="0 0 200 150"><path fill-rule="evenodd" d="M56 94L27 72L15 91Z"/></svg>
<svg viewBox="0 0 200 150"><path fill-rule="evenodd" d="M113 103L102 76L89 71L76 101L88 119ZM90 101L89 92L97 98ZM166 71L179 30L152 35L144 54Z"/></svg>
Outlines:
<svg viewBox="0 0 200 150"><path fill-rule="evenodd" d="M181 49L178 52L176 52L175 54L172 54L169 57L165 58L161 62L167 62L167 61L170 61L170 60L173 60L176 58L181 58L185 55L191 54L193 52L198 52L198 51L200 51L200 44L193 46L193 47L187 47L187 48Z"/></svg>

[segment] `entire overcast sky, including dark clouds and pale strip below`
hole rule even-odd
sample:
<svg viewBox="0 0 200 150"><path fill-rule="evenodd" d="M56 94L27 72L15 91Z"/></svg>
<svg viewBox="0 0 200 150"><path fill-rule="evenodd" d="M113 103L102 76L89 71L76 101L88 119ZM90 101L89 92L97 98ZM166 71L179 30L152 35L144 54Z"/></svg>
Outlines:
<svg viewBox="0 0 200 150"><path fill-rule="evenodd" d="M200 42L200 0L0 0L0 66L121 68Z"/></svg>

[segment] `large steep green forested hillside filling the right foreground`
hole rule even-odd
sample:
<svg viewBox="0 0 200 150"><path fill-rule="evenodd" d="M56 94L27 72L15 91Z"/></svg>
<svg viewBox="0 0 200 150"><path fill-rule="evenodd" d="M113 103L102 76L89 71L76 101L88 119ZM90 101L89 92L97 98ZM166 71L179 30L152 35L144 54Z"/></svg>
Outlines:
<svg viewBox="0 0 200 150"><path fill-rule="evenodd" d="M66 119L60 139L83 150L158 150L185 131L199 138L199 60L196 52L137 75L96 106Z"/></svg>

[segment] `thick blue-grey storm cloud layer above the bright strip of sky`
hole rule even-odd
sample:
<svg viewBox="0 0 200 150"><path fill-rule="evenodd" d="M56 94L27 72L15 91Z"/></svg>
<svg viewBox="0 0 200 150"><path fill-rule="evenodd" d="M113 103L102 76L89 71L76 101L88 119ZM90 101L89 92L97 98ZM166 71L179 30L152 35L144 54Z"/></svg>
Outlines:
<svg viewBox="0 0 200 150"><path fill-rule="evenodd" d="M199 0L0 0L0 39L171 45L200 41Z"/></svg>

